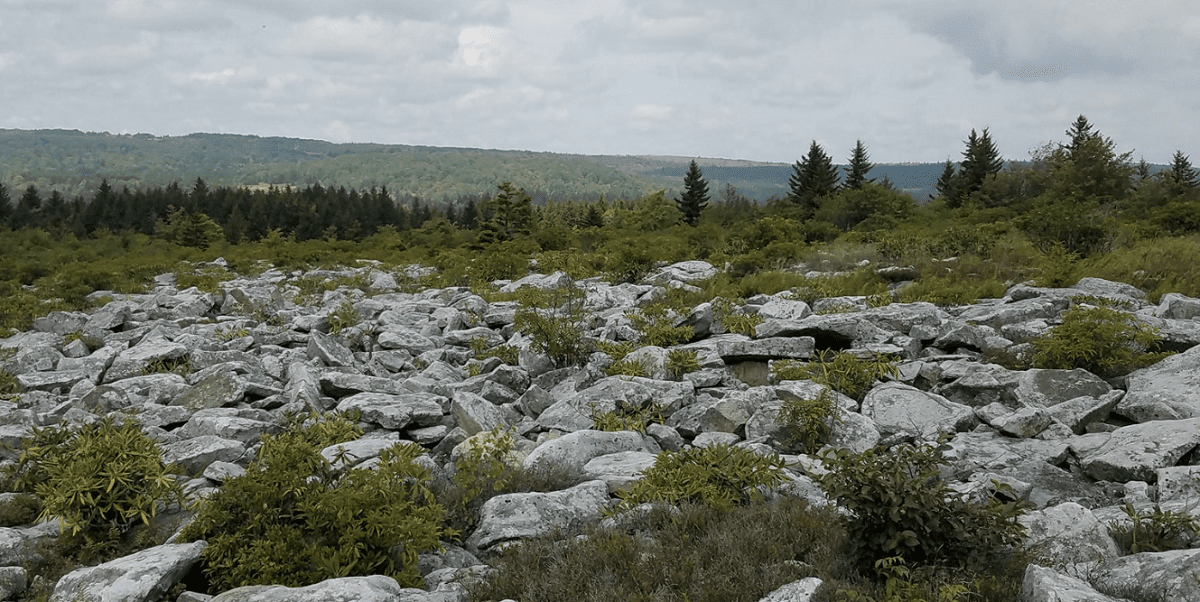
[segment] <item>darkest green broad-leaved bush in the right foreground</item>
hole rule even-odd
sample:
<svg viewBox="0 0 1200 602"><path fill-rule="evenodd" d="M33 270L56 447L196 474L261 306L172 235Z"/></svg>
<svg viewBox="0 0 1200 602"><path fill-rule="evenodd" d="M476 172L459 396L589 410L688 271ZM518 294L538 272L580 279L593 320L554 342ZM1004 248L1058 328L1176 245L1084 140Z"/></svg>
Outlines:
<svg viewBox="0 0 1200 602"><path fill-rule="evenodd" d="M962 499L942 480L940 460L936 447L907 444L822 454L829 471L817 482L850 511L851 554L864 572L892 556L965 566L1021 543L1025 528L1016 518L1024 510L994 498L986 504Z"/></svg>

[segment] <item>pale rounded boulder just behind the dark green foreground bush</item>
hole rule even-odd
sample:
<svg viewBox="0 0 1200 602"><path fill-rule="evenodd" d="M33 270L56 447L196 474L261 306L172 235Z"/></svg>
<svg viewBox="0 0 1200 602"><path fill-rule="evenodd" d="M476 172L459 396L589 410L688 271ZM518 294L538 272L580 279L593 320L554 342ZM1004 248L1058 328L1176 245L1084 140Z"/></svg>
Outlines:
<svg viewBox="0 0 1200 602"><path fill-rule="evenodd" d="M977 422L971 408L901 383L884 383L866 393L863 415L882 437L904 433L925 441L970 431Z"/></svg>

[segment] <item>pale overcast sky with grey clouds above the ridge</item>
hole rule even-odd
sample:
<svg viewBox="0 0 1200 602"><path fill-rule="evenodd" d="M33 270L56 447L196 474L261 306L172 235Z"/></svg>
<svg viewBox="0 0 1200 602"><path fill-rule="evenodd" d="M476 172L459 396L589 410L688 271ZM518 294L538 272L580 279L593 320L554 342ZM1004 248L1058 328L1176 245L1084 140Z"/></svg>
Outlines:
<svg viewBox="0 0 1200 602"><path fill-rule="evenodd" d="M0 0L0 127L793 162L1200 163L1194 0Z"/></svg>

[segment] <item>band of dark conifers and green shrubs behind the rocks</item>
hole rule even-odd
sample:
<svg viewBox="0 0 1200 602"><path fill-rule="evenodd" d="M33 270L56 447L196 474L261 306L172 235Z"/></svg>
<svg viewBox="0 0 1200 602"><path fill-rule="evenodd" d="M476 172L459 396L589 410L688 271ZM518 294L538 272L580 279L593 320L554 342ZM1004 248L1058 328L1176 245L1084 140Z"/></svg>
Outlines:
<svg viewBox="0 0 1200 602"><path fill-rule="evenodd" d="M210 187L202 177L120 189L102 177L89 198L71 199L0 186L0 293L13 295L0 326L216 257L235 270L258 259L421 264L439 269L442 285L532 267L634 281L656 263L704 259L726 269L731 294L774 293L805 270L845 272L826 284L841 294L887 291L874 272L853 270L866 260L912 266L919 276L900 295L942 305L1084 272L1154 297L1200 295L1200 177L1182 151L1166 169L1134 163L1082 115L1027 161L1001 157L988 130L964 145L924 204L875 175L863 143L839 168L815 142L793 165L788 193L766 204L731 183L709 189L695 164L678 195L535 201L505 181L443 206L385 187Z"/></svg>

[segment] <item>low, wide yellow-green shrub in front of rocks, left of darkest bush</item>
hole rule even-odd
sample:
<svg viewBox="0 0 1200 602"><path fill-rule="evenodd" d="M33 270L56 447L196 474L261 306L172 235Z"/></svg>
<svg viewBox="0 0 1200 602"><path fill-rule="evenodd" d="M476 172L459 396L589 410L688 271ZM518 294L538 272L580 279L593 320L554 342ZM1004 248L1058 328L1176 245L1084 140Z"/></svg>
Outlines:
<svg viewBox="0 0 1200 602"><path fill-rule="evenodd" d="M618 492L618 513L646 502L694 501L719 510L758 499L760 487L784 483L784 460L742 447L712 445L678 452L664 451L631 488Z"/></svg>

